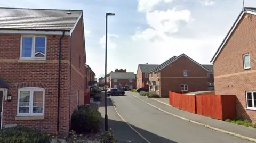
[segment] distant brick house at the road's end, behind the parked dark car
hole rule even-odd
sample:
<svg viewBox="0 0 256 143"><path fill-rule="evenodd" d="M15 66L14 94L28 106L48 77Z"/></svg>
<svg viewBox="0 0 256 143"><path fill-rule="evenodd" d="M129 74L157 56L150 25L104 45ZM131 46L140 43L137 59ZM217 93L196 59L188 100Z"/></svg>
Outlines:
<svg viewBox="0 0 256 143"><path fill-rule="evenodd" d="M121 72L119 72L121 71ZM109 76L110 88L133 89L136 87L136 79L133 72L126 72L126 69L110 72Z"/></svg>

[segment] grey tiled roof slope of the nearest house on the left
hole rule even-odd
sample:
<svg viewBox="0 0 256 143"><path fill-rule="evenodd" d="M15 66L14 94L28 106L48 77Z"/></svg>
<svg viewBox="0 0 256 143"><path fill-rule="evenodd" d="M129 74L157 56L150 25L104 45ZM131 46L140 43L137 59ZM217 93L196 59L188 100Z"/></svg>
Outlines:
<svg viewBox="0 0 256 143"><path fill-rule="evenodd" d="M0 29L70 31L74 29L82 13L82 10L0 7Z"/></svg>

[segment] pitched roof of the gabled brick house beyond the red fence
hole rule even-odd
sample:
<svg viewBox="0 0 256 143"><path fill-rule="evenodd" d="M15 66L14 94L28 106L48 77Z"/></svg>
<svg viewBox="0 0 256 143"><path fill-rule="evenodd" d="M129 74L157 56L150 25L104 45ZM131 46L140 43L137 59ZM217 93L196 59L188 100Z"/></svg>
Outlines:
<svg viewBox="0 0 256 143"><path fill-rule="evenodd" d="M194 61L192 58L190 58L189 56L185 55L185 54L181 54L178 57L173 56L171 57L169 60L165 61L164 63L162 63L161 65L158 65L155 69L151 70L150 72L155 72L155 71L160 71L162 69L164 69L167 65L170 65L171 63L173 63L174 61L178 60L180 57L185 56L187 57L189 60L191 60L192 62L196 63L197 65L201 66L202 68L204 68L206 71L208 71L207 68L205 68L203 65L197 63L196 61Z"/></svg>

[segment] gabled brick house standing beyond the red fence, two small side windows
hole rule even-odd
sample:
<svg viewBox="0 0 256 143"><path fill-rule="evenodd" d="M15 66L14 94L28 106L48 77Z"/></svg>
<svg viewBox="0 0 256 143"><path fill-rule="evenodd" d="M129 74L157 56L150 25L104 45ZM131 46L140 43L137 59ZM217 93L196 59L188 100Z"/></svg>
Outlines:
<svg viewBox="0 0 256 143"><path fill-rule="evenodd" d="M207 90L207 71L185 54L173 56L149 72L150 91L169 97L169 91L193 92Z"/></svg>

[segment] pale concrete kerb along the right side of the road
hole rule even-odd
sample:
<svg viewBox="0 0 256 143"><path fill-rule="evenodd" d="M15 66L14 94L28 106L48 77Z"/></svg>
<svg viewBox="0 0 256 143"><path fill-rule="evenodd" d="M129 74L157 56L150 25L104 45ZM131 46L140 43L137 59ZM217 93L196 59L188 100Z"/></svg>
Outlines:
<svg viewBox="0 0 256 143"><path fill-rule="evenodd" d="M129 95L132 95L132 94L129 94ZM199 122L196 122L196 121L193 121L193 120L189 120L189 119L187 119L187 118L185 118L185 117L172 114L172 113L170 113L170 112L167 112L167 111L162 110L161 108L156 107L155 105L152 105L152 104L150 104L150 103L145 102L144 100L140 99L140 98L137 97L137 96L134 96L134 95L132 95L132 96L135 97L135 98L137 98L137 99L139 99L139 100L141 100L142 102L144 102L144 103L146 103L146 104L148 104L148 105L150 105L150 106L156 108L157 110L160 110L160 111L162 111L162 112L164 112L164 113L166 113L166 114L170 114L170 115L172 115L172 116L178 117L178 118L180 118L180 119L182 119L182 120L186 120L186 121L189 121L189 122L191 122L191 123L195 123L195 124L198 124L198 125L202 125L203 127L210 128L210 129L215 130L215 131L220 131L220 132L223 132L223 133L227 133L227 134L236 136L236 137L238 137L238 138L242 138L242 139L245 139L245 140L250 140L250 141L256 142L256 139L249 138L249 137L246 137L246 136L242 136L241 134L237 134L237 133L234 133L234 132L229 132L229 131L226 131L226 130L222 130L222 129L219 129L219 128L215 128L215 127L212 127L212 126L210 126L210 125L206 125L206 124L203 124L203 123L199 123ZM155 100L156 100L156 99L155 99ZM159 100L157 100L157 101L159 102Z"/></svg>

